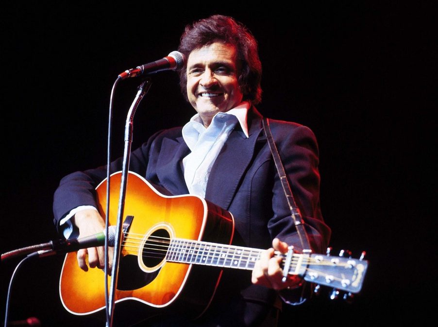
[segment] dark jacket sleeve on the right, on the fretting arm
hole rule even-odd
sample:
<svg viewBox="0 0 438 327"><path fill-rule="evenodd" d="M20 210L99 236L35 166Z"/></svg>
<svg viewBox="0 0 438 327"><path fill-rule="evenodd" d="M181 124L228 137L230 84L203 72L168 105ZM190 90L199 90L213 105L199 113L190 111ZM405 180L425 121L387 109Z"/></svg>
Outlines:
<svg viewBox="0 0 438 327"><path fill-rule="evenodd" d="M314 133L305 126L298 125L285 132L271 124L286 176L297 207L301 211L306 233L313 252L325 253L331 230L324 223L320 210L319 153ZM289 245L302 249L293 224L285 192L275 170L273 195L273 217L268 222L272 238L278 237Z"/></svg>

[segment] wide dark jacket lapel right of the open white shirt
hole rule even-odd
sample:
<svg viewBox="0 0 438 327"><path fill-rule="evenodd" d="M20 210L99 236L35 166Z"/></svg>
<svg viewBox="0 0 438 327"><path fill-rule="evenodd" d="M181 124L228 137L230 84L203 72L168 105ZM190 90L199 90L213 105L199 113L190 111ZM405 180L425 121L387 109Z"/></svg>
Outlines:
<svg viewBox="0 0 438 327"><path fill-rule="evenodd" d="M250 164L256 141L262 131L262 116L255 110L248 113L249 138L236 127L220 151L208 177L205 199L228 209L237 186Z"/></svg>

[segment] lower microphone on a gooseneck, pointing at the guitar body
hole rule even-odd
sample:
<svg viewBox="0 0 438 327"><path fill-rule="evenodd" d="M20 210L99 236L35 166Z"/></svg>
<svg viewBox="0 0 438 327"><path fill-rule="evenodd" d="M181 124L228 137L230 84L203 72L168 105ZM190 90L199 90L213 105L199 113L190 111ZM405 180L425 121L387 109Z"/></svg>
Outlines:
<svg viewBox="0 0 438 327"><path fill-rule="evenodd" d="M108 245L114 246L116 240L116 226L108 227ZM26 246L17 250L9 251L1 255L1 261L14 258L19 255L27 255L38 252L41 256L53 255L59 253L68 253L86 249L88 247L105 245L105 231L100 233L81 237L79 239L57 240L47 243Z"/></svg>

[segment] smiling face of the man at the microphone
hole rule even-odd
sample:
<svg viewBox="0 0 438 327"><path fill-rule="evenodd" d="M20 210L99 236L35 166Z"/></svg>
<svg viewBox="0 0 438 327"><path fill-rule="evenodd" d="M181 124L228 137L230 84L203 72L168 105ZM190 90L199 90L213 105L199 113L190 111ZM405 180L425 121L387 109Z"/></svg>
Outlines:
<svg viewBox="0 0 438 327"><path fill-rule="evenodd" d="M187 97L205 126L218 112L242 102L236 48L213 43L193 50L187 60Z"/></svg>

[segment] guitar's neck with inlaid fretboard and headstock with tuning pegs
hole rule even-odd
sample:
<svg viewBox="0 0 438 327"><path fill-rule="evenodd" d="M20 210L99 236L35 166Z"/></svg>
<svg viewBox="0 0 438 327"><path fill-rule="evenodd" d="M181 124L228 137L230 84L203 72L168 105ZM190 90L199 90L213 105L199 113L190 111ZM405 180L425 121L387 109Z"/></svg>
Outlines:
<svg viewBox="0 0 438 327"><path fill-rule="evenodd" d="M253 270L255 262L263 250L249 247L172 239L169 243L166 260L187 264L200 264L223 268ZM286 256L282 267L285 268ZM320 254L293 253L288 267L288 275L302 275L309 282L335 287L339 290L358 293L367 271L366 260L329 257Z"/></svg>

